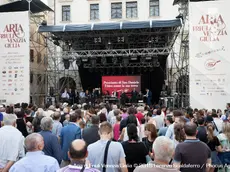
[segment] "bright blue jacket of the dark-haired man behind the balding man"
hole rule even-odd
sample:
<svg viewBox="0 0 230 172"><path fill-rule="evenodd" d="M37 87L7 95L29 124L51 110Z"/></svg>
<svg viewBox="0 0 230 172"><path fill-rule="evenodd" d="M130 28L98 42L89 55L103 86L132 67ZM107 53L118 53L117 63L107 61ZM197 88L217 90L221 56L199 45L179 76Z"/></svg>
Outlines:
<svg viewBox="0 0 230 172"><path fill-rule="evenodd" d="M62 149L62 159L64 161L68 161L68 150L70 144L75 139L81 139L81 128L78 127L75 123L69 123L69 125L65 126L61 130L61 149Z"/></svg>

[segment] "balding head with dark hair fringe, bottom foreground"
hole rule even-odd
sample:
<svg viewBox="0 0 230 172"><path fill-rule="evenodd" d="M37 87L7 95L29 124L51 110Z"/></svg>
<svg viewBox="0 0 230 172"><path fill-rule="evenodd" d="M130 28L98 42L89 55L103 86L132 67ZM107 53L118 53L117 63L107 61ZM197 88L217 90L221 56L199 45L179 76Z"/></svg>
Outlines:
<svg viewBox="0 0 230 172"><path fill-rule="evenodd" d="M85 159L88 156L87 144L85 141L80 139L74 140L70 144L68 155L71 161Z"/></svg>

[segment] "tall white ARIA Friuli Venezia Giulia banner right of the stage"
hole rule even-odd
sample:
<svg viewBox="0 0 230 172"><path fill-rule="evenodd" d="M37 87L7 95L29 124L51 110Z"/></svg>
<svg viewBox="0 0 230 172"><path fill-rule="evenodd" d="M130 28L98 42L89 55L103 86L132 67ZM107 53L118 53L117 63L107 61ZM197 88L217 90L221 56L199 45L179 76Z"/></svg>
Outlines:
<svg viewBox="0 0 230 172"><path fill-rule="evenodd" d="M230 1L191 2L190 104L225 109L230 102Z"/></svg>

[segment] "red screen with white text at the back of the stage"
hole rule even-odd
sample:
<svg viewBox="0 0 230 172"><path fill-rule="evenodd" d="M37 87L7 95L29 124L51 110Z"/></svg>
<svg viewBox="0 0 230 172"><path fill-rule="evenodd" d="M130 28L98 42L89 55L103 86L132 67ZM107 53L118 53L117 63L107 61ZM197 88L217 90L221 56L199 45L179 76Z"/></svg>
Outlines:
<svg viewBox="0 0 230 172"><path fill-rule="evenodd" d="M137 92L141 91L140 76L102 76L102 92L111 95L113 91L117 91L120 95L122 90L126 93L133 89Z"/></svg>

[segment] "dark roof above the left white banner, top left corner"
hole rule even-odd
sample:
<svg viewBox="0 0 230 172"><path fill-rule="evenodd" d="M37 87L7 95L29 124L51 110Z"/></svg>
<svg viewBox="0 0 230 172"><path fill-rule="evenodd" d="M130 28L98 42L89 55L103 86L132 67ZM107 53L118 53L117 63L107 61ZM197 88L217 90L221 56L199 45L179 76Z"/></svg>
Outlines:
<svg viewBox="0 0 230 172"><path fill-rule="evenodd" d="M0 5L0 12L16 12L28 11L29 3L27 0L19 0L4 5ZM30 11L32 13L40 13L43 11L53 11L50 7L40 0L32 0L30 3Z"/></svg>

